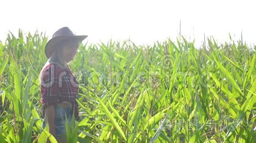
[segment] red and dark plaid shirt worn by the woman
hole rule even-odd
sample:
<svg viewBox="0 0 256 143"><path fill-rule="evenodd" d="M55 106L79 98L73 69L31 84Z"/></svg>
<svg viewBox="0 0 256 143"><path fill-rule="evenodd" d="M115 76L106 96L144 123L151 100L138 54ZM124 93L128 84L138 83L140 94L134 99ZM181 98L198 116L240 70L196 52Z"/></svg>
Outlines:
<svg viewBox="0 0 256 143"><path fill-rule="evenodd" d="M45 107L56 105L61 102L72 103L72 111L78 116L78 103L75 100L78 94L79 83L69 68L61 68L57 64L49 64L41 75L41 104L43 106L43 117Z"/></svg>

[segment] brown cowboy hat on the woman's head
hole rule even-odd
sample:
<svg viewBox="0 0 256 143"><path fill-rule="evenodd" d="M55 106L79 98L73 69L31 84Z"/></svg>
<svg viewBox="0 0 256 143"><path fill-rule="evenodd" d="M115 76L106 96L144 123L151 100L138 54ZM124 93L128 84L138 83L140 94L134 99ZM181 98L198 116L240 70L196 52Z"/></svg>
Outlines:
<svg viewBox="0 0 256 143"><path fill-rule="evenodd" d="M68 27L62 27L57 30L52 39L50 39L45 46L45 55L49 59L53 53L53 49L56 48L56 45L67 41L67 40L76 40L78 43L81 43L87 35L75 35Z"/></svg>

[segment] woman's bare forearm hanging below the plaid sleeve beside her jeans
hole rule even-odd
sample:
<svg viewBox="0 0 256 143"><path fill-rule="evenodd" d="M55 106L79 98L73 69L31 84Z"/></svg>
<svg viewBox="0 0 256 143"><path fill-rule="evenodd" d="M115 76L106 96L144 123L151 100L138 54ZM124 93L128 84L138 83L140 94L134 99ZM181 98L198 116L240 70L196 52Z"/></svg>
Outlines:
<svg viewBox="0 0 256 143"><path fill-rule="evenodd" d="M52 134L53 136L56 135L56 131L55 131L55 108L54 105L49 105L47 107L45 107L45 119L46 122L49 123L49 132L50 134Z"/></svg>

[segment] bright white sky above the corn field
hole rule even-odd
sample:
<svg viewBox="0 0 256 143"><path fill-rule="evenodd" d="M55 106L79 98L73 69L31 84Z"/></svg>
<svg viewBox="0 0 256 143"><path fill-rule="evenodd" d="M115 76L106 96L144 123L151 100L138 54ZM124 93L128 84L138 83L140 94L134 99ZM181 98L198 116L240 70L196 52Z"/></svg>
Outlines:
<svg viewBox="0 0 256 143"><path fill-rule="evenodd" d="M163 42L181 35L201 45L203 34L218 42L229 41L229 32L256 45L254 0L2 0L0 40L10 30L45 32L49 38L63 26L84 43L130 39L136 44ZM234 37L235 35L235 37Z"/></svg>

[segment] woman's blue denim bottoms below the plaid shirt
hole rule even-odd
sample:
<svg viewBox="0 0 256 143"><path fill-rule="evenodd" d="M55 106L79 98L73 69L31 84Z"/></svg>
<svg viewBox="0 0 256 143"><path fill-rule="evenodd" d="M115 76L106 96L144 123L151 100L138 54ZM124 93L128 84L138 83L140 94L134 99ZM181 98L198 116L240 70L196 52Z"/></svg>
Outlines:
<svg viewBox="0 0 256 143"><path fill-rule="evenodd" d="M67 116L67 118L66 118ZM71 108L69 107L62 107L62 106L55 106L55 130L56 130L56 139L59 139L62 136L66 136L66 120L68 120L68 125L70 125L72 117ZM45 128L45 118L42 123L43 129Z"/></svg>

